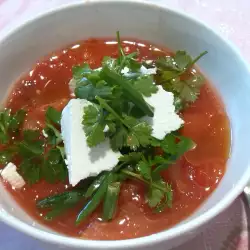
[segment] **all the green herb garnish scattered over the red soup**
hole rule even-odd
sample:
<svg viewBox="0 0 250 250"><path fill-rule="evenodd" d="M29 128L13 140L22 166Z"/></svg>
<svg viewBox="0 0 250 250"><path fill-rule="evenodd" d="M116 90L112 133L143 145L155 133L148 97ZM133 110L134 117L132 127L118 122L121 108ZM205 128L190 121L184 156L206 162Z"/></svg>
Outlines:
<svg viewBox="0 0 250 250"><path fill-rule="evenodd" d="M103 58L100 69L83 64L73 67L72 72L75 96L90 102L83 110L82 119L88 146L95 147L109 140L111 148L123 155L111 171L103 171L72 190L38 201L37 207L46 211L46 220L52 220L78 203L82 209L76 218L77 225L101 205L103 220L113 219L121 185L127 179L145 184L145 199L153 211L161 212L172 205L173 190L161 173L193 149L195 143L176 131L163 140L152 137L152 126L141 118L153 117L154 109L144 97L156 94L157 84L162 84L165 90L174 93L176 112L194 102L203 78L192 67L207 52L192 59L185 51L177 51L173 56L145 64L138 61L137 51L125 53L119 32L117 43L118 58ZM156 66L156 76L143 74L142 65ZM61 112L49 107L42 133L26 130L18 142L12 142L11 136L20 130L25 114L23 110L15 114L7 109L0 112L0 142L9 145L1 151L0 163L6 164L18 157L21 160L18 171L30 185L41 179L49 183L66 180ZM161 148L161 155L155 155L156 148Z"/></svg>

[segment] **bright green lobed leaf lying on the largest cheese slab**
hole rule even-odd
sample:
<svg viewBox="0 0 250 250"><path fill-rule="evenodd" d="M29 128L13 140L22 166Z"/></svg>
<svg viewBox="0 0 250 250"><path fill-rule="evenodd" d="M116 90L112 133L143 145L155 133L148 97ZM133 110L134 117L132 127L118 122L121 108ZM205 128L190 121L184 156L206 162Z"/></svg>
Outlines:
<svg viewBox="0 0 250 250"><path fill-rule="evenodd" d="M103 110L98 105L89 105L83 112L83 129L89 147L94 147L105 140Z"/></svg>

